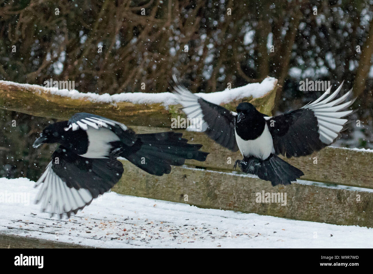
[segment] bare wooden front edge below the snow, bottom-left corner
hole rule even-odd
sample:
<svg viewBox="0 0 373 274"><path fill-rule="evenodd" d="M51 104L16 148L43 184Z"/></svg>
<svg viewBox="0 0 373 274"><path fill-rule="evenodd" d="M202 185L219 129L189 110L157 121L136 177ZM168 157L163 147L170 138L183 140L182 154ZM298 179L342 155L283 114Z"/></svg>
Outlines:
<svg viewBox="0 0 373 274"><path fill-rule="evenodd" d="M33 237L0 234L0 248L93 248L91 246L63 243Z"/></svg>

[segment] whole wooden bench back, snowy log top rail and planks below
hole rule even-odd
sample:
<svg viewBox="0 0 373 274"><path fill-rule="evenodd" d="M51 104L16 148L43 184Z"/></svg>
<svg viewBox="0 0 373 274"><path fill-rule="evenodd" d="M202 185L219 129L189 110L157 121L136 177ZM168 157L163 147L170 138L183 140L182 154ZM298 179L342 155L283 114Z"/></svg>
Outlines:
<svg viewBox="0 0 373 274"><path fill-rule="evenodd" d="M270 114L276 88L276 79L267 78L261 84L249 84L202 96L232 110L238 102L249 100L262 112ZM0 81L0 107L57 119L68 119L78 111L90 112L126 123L137 133L169 130L170 119L183 115L170 93L112 96L82 94L77 91L51 90L5 81ZM327 147L307 157L287 159L289 163L304 171L303 180L289 186L272 187L269 182L256 176L233 171L235 160L242 157L239 152L233 153L215 144L203 133L175 130L182 131L184 137L191 142L203 144L202 150L210 152L207 160L186 161L185 166L173 167L169 175L161 177L151 176L123 160L125 172L112 190L120 194L179 202L201 208L373 227L373 151ZM43 156L47 157L47 153L50 152ZM266 196L267 193L286 194L286 202L265 202L265 199L258 201L259 196ZM81 216L78 223L82 225L84 213L78 215ZM94 217L90 215L90 218ZM160 220L162 218L159 218ZM11 222L12 227L17 224L16 221L12 220L15 222ZM182 226L184 225L177 228L178 233L181 232ZM43 241L34 242L34 246L54 244Z"/></svg>

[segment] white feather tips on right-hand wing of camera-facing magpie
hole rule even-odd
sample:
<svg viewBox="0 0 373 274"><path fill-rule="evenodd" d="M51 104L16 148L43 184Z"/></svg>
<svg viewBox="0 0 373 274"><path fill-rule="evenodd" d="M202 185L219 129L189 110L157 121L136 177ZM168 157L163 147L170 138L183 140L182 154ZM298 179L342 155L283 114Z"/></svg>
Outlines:
<svg viewBox="0 0 373 274"><path fill-rule="evenodd" d="M326 95L330 94L330 88L328 88L323 95L320 96L316 101L313 103L307 104L302 108L308 108L314 112L316 116L317 123L319 126L319 135L320 141L324 144L330 145L332 142L338 138L340 132L343 129L343 126L348 122L348 119L341 119L344 116L347 116L352 113L353 110L347 111L339 111L343 110L344 108L349 107L354 103L355 100L351 100L348 102L343 103L348 96L350 96L352 89L348 91L345 95L341 96L340 98L332 101L341 91L342 84L333 92L329 97L324 99ZM270 119L270 117L264 117L266 120Z"/></svg>

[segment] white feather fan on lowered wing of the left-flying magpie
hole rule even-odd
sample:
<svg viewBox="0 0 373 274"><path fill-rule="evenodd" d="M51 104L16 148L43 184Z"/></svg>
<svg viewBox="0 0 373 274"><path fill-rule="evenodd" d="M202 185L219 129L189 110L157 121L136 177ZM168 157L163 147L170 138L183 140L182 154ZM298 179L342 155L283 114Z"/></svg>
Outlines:
<svg viewBox="0 0 373 274"><path fill-rule="evenodd" d="M42 186L36 196L35 204L41 202L41 208L60 217L65 212L72 212L85 207L93 199L88 189L69 188L52 170L50 162L35 187Z"/></svg>

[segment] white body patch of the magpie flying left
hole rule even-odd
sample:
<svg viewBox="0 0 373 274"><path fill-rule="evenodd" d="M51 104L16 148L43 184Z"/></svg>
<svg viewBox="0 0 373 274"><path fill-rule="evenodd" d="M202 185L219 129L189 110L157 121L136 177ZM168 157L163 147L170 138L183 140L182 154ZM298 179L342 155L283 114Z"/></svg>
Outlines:
<svg viewBox="0 0 373 274"><path fill-rule="evenodd" d="M88 150L81 155L82 157L106 158L104 156L109 155L112 148L110 142L119 141L119 137L106 127L99 127L98 129L88 127L86 132L88 135Z"/></svg>

